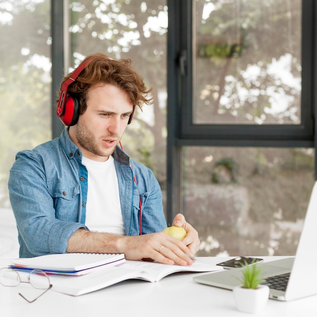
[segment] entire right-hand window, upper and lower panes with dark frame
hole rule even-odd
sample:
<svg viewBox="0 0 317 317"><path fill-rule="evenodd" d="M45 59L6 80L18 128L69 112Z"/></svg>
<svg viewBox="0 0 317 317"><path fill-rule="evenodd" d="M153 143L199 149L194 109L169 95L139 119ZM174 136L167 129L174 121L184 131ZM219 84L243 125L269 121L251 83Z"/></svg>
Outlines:
<svg viewBox="0 0 317 317"><path fill-rule="evenodd" d="M314 2L168 6L169 218L198 229L200 255L294 254L314 182Z"/></svg>

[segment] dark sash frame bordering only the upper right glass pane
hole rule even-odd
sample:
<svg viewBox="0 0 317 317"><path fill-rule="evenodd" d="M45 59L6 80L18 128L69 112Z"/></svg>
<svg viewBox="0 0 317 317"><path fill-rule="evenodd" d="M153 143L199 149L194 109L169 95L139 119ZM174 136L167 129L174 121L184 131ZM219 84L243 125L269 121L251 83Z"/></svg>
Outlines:
<svg viewBox="0 0 317 317"><path fill-rule="evenodd" d="M249 125L249 124L193 124L193 1L182 2L186 10L187 25L180 28L180 59L179 80L181 93L181 126L180 144L183 139L211 141L219 140L221 143L235 144L239 140L241 145L267 146L272 142L275 146L305 146L312 145L313 141L313 96L312 96L312 67L313 64L313 10L312 1L303 1L302 6L302 98L301 98L301 124L299 125ZM186 21L186 20L184 20ZM185 64L185 65L184 65ZM305 111L303 111L305 109ZM186 142L187 143L187 142ZM214 142L210 142L214 143Z"/></svg>

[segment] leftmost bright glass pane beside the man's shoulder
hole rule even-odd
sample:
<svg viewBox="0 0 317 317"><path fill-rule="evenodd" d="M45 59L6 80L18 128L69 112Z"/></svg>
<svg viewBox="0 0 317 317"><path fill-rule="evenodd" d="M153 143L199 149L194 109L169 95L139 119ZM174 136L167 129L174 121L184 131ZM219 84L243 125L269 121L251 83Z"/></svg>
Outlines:
<svg viewBox="0 0 317 317"><path fill-rule="evenodd" d="M52 138L50 4L0 4L0 257L18 256L7 189L15 154Z"/></svg>

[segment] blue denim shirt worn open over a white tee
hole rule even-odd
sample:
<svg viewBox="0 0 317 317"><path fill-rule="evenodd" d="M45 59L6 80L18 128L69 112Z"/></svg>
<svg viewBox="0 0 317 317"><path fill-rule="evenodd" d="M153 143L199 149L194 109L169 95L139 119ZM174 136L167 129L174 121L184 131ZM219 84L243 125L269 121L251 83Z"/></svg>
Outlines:
<svg viewBox="0 0 317 317"><path fill-rule="evenodd" d="M167 224L153 173L120 147L112 155L126 235L140 234L140 198L142 234L162 231ZM85 226L88 183L82 152L70 140L68 129L59 138L17 153L8 187L20 257L65 253L74 231L89 230Z"/></svg>

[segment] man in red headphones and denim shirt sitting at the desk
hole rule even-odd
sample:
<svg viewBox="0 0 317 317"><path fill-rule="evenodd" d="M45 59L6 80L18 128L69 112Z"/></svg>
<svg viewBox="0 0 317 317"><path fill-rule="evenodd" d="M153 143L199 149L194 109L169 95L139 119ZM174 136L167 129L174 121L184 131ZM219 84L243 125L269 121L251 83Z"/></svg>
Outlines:
<svg viewBox="0 0 317 317"><path fill-rule="evenodd" d="M129 59L88 56L61 84L57 115L69 126L55 140L21 151L10 170L20 257L123 252L129 260L190 265L197 231L179 241L166 227L152 172L118 146L136 106L149 104Z"/></svg>

